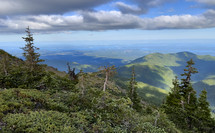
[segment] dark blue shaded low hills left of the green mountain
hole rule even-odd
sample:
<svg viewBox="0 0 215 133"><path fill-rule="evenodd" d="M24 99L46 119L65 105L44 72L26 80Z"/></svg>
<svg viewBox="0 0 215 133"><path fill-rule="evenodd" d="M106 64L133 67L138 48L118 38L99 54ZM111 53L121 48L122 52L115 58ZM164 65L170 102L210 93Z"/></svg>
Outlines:
<svg viewBox="0 0 215 133"><path fill-rule="evenodd" d="M60 71L67 70L67 62L69 62L72 67L75 67L77 72L81 69L85 72L95 72L101 66L123 66L126 64L122 59L87 56L77 51L74 51L74 53L41 56L41 58L45 60L45 64L58 68Z"/></svg>

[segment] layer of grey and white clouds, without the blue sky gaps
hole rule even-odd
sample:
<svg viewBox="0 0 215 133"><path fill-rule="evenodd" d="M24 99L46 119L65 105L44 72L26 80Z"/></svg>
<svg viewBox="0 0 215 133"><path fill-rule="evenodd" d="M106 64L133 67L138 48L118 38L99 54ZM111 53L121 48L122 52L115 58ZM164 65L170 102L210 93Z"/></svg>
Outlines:
<svg viewBox="0 0 215 133"><path fill-rule="evenodd" d="M101 31L118 29L200 29L215 27L215 10L200 15L163 15L142 18L151 8L175 0L0 0L0 33L23 33L30 26L35 32ZM215 5L214 0L187 0ZM118 10L95 11L112 2ZM128 4L129 3L129 4ZM73 12L74 11L74 12ZM73 12L72 15L63 15Z"/></svg>

